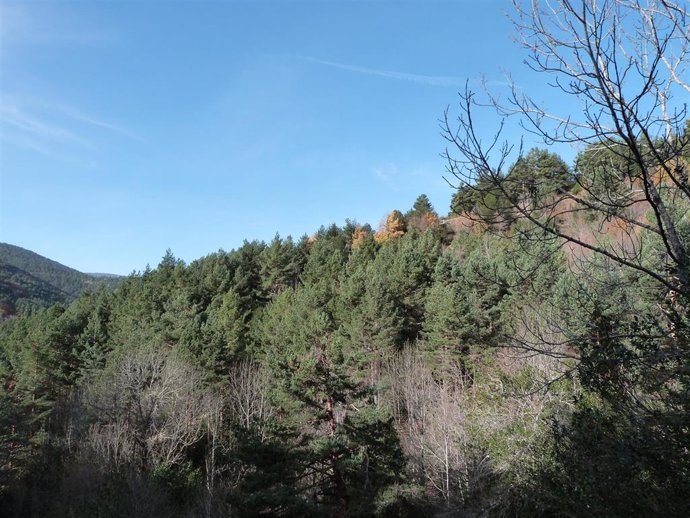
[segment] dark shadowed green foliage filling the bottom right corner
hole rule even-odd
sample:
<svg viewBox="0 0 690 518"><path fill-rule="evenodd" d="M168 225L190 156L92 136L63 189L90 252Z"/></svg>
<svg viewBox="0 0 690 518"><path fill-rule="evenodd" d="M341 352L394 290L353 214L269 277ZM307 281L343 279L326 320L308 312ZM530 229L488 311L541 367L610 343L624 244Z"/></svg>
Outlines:
<svg viewBox="0 0 690 518"><path fill-rule="evenodd" d="M516 488L521 494L513 512L687 516L687 432L669 436L658 417L583 400L567 423L554 423L552 438L538 452L545 462Z"/></svg>

